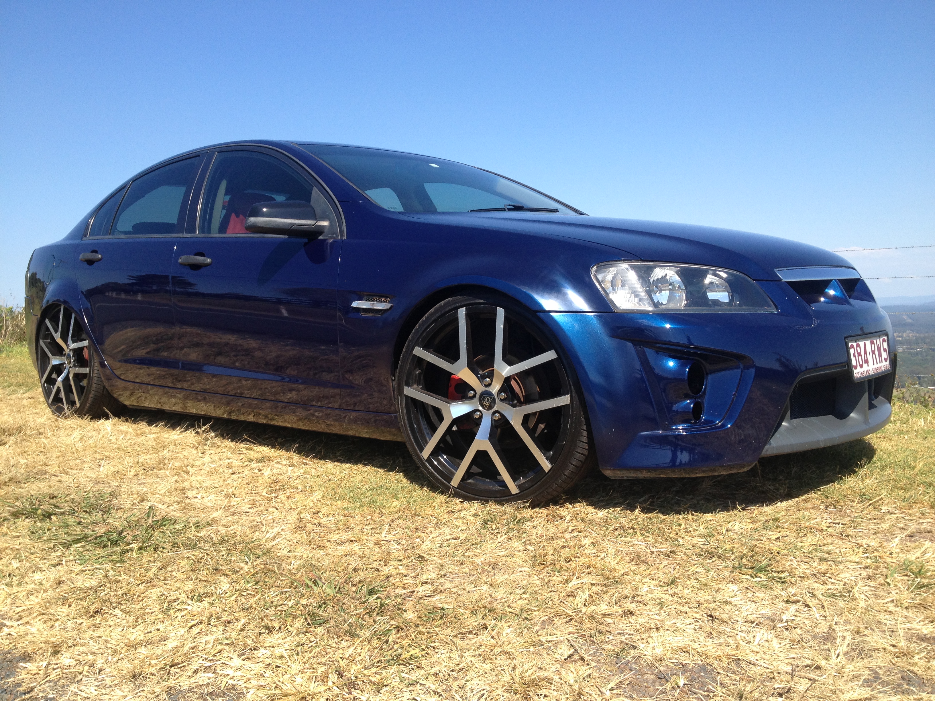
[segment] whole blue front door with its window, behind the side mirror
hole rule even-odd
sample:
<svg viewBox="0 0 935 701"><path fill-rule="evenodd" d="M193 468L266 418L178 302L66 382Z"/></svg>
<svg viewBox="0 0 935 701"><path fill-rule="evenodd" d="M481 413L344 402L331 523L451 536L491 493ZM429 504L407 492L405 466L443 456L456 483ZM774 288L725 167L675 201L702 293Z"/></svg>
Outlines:
<svg viewBox="0 0 935 701"><path fill-rule="evenodd" d="M301 200L329 231L309 241L243 228L252 205ZM200 392L338 407L335 206L280 158L259 150L217 153L197 236L180 236L172 299L180 372L175 386ZM182 265L181 256L209 265Z"/></svg>

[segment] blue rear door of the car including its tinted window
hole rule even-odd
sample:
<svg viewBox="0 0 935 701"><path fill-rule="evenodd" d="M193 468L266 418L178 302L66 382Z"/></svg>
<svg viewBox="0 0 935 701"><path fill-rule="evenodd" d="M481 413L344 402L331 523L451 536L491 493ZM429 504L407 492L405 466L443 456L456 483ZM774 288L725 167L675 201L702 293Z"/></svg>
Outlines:
<svg viewBox="0 0 935 701"><path fill-rule="evenodd" d="M78 247L85 316L121 379L166 384L179 366L169 273L202 161L196 155L134 179L98 209Z"/></svg>

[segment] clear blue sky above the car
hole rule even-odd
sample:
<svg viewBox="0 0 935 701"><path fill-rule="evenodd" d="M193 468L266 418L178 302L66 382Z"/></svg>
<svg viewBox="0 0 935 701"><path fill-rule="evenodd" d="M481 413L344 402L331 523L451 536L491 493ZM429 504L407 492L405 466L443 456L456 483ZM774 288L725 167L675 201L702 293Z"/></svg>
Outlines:
<svg viewBox="0 0 935 701"><path fill-rule="evenodd" d="M602 216L935 243L933 37L928 0L7 0L0 298L123 179L236 138L436 155ZM935 249L848 255L935 275Z"/></svg>

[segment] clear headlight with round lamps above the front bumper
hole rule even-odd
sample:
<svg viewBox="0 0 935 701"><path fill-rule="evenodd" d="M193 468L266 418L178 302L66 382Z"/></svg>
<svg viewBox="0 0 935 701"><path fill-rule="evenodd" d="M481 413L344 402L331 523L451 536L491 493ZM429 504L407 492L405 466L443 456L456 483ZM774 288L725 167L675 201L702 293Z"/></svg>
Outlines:
<svg viewBox="0 0 935 701"><path fill-rule="evenodd" d="M617 311L775 311L747 276L703 265L611 261L591 268Z"/></svg>

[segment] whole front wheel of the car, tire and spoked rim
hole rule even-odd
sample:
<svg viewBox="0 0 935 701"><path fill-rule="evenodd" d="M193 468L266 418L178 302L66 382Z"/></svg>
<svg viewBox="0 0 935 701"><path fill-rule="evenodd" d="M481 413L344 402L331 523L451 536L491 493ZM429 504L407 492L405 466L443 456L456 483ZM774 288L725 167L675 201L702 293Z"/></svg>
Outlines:
<svg viewBox="0 0 935 701"><path fill-rule="evenodd" d="M406 444L439 489L541 504L593 464L571 365L518 303L453 297L413 329L396 371Z"/></svg>

